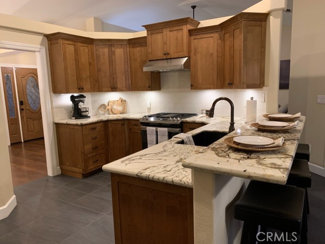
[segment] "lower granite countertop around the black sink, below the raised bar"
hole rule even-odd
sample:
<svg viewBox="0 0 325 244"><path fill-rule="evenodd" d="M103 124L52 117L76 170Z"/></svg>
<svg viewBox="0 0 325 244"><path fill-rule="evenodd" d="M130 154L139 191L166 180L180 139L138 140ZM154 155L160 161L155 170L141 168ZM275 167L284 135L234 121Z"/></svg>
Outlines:
<svg viewBox="0 0 325 244"><path fill-rule="evenodd" d="M228 132L230 117L197 115L184 119L186 122L210 123L187 134L198 134L203 130ZM235 128L244 124L243 118L235 118ZM103 166L104 171L192 187L191 169L184 168L184 159L199 154L206 147L176 144L182 139L173 138L151 146L133 155Z"/></svg>

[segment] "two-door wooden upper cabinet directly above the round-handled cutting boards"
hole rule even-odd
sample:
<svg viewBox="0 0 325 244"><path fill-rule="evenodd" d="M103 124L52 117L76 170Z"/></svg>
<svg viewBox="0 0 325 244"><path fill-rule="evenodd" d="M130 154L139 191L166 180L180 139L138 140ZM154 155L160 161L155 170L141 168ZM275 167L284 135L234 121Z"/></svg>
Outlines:
<svg viewBox="0 0 325 244"><path fill-rule="evenodd" d="M126 44L95 44L100 92L130 89L128 47Z"/></svg>

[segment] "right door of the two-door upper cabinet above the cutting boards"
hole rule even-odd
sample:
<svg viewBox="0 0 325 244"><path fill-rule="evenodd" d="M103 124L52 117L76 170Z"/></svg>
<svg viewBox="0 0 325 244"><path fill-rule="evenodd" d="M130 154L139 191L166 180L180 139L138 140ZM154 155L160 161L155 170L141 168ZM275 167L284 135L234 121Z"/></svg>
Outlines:
<svg viewBox="0 0 325 244"><path fill-rule="evenodd" d="M127 45L112 45L114 91L129 90Z"/></svg>

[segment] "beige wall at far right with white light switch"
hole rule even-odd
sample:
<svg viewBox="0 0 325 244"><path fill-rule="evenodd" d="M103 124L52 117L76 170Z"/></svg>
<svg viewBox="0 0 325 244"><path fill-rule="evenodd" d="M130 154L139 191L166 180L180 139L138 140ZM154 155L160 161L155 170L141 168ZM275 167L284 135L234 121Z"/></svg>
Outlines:
<svg viewBox="0 0 325 244"><path fill-rule="evenodd" d="M325 104L316 104L325 95L325 2L294 1L291 37L289 113L302 112L307 122L302 143L311 144L310 162L324 167Z"/></svg>

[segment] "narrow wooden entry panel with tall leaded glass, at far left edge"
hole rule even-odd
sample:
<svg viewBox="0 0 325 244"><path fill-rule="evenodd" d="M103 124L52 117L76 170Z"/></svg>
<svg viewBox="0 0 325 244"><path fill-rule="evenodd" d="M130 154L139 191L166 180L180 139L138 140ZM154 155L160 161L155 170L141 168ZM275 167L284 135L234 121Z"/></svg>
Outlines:
<svg viewBox="0 0 325 244"><path fill-rule="evenodd" d="M6 101L10 143L21 142L19 113L17 109L18 106L14 79L14 68L2 67L1 74Z"/></svg>

